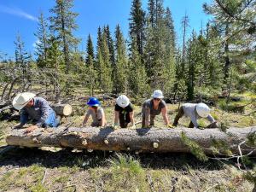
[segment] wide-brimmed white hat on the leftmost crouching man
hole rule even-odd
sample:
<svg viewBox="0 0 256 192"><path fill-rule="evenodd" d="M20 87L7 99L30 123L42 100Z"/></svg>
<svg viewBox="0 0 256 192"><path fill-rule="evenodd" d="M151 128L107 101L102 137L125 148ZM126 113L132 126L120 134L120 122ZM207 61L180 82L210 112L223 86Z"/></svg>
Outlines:
<svg viewBox="0 0 256 192"><path fill-rule="evenodd" d="M36 96L36 94L31 92L24 92L19 93L17 96L15 96L13 101L13 106L17 110L20 110L21 108L24 108L26 104Z"/></svg>

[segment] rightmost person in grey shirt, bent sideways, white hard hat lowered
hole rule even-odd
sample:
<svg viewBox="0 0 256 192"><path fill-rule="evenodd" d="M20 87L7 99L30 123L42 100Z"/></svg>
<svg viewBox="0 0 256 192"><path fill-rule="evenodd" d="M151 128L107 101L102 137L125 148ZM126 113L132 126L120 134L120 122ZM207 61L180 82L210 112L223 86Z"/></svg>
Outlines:
<svg viewBox="0 0 256 192"><path fill-rule="evenodd" d="M178 119L183 117L183 115L188 116L191 121L189 123L189 128L198 128L197 119L207 118L211 124L207 128L216 128L217 121L213 119L210 114L211 109L207 104L201 103L184 103L178 110L177 115L174 119L173 126L177 126Z"/></svg>

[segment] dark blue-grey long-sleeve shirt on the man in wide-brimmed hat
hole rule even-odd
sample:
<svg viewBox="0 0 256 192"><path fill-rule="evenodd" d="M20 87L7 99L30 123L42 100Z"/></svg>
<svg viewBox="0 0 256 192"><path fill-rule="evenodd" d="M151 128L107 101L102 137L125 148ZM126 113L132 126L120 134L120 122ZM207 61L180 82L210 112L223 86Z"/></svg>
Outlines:
<svg viewBox="0 0 256 192"><path fill-rule="evenodd" d="M46 119L55 111L49 107L49 103L42 97L34 97L34 103L31 108L22 108L20 110L20 124L25 125L28 119L36 122L36 125L43 126Z"/></svg>

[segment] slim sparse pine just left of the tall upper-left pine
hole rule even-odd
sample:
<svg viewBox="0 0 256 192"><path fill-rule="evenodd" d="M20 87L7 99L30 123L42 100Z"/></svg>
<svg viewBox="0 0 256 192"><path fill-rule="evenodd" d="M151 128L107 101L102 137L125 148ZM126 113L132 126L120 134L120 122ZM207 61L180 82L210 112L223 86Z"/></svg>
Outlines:
<svg viewBox="0 0 256 192"><path fill-rule="evenodd" d="M36 55L38 55L38 67L46 67L47 49L49 48L48 38L48 23L44 19L44 14L41 13L38 18L38 32L35 33L38 38L36 43Z"/></svg>

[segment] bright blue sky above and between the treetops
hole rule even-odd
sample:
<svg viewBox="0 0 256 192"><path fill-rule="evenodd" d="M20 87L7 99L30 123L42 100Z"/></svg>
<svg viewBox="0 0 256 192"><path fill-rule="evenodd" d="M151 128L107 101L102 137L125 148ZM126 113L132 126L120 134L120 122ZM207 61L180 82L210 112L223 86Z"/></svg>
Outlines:
<svg viewBox="0 0 256 192"><path fill-rule="evenodd" d="M147 9L148 0L142 0L143 9ZM177 41L181 42L181 20L185 12L189 15L190 31L199 32L201 23L206 25L209 16L202 11L202 3L211 0L164 0L165 7L172 11ZM0 0L0 52L10 56L15 52L15 37L19 33L26 49L33 53L33 44L37 41L37 18L40 11L49 17L49 9L55 5L54 0ZM96 43L98 26L109 25L113 34L117 24L121 26L125 38L128 38L131 0L75 0L73 10L79 13L78 31L74 32L83 41L79 49L85 50L85 40L90 33ZM188 33L189 34L189 33Z"/></svg>

